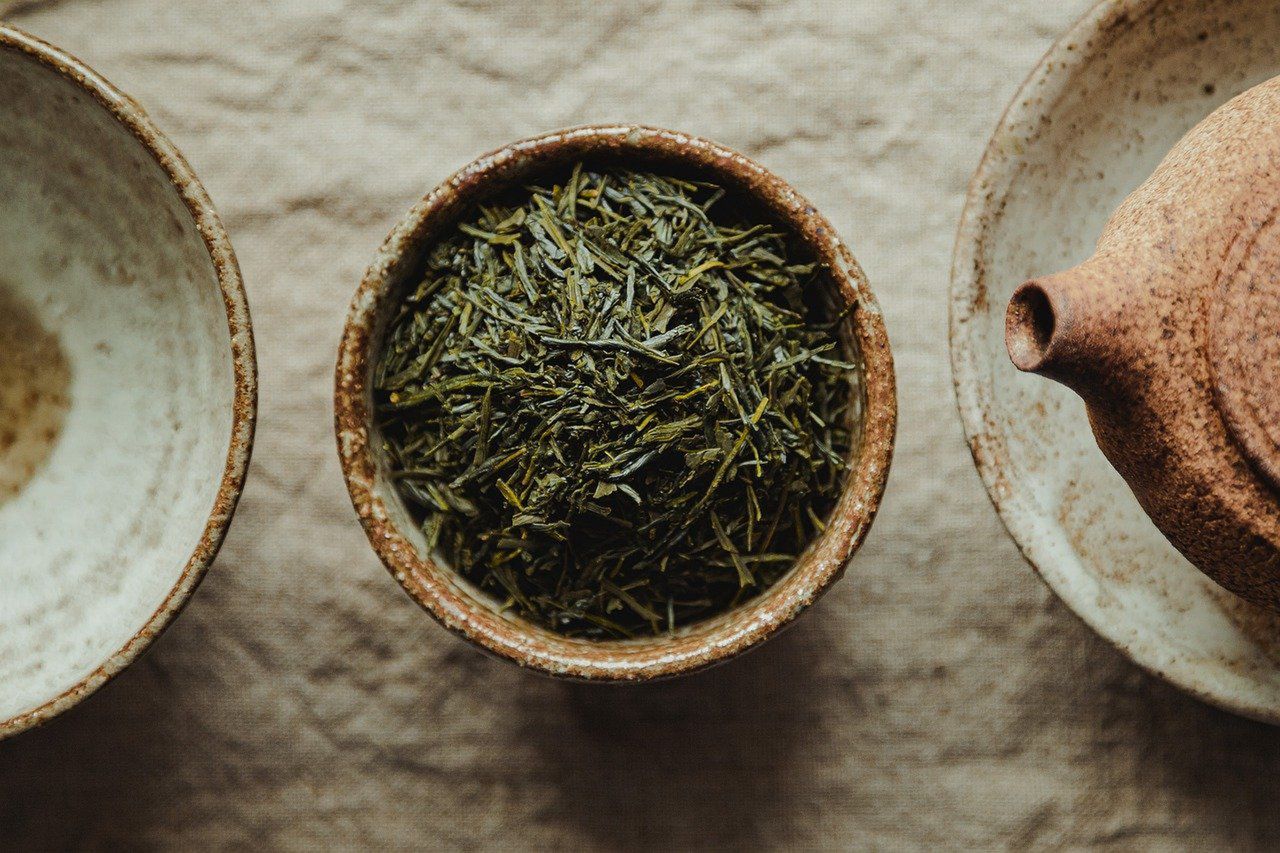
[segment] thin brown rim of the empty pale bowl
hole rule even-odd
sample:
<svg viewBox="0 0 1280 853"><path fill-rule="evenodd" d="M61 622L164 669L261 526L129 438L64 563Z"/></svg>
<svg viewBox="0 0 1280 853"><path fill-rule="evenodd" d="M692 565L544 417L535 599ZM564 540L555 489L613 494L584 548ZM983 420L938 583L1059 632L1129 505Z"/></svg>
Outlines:
<svg viewBox="0 0 1280 853"><path fill-rule="evenodd" d="M250 320L248 300L244 295L244 282L241 278L236 254L223 223L214 210L205 187L183 160L173 142L161 133L146 111L128 95L115 88L97 72L70 54L52 45L0 23L0 50L22 54L45 68L61 74L82 91L90 93L105 108L138 142L151 154L155 161L169 175L169 182L182 197L187 210L200 231L209 257L218 274L218 283L227 306L227 325L230 333L232 365L236 378L236 398L232 418L230 444L227 452L227 465L223 469L221 483L214 501L205 532L196 543L178 581L169 590L164 602L147 619L146 624L114 654L96 670L86 675L78 684L63 692L54 699L32 711L0 721L0 739L17 734L32 726L47 722L63 711L77 704L110 681L124 667L132 663L151 643L164 633L182 612L192 592L204 579L218 549L223 544L232 515L244 487L244 474L250 455L253 451L253 428L257 420L257 361L253 350L253 329Z"/></svg>

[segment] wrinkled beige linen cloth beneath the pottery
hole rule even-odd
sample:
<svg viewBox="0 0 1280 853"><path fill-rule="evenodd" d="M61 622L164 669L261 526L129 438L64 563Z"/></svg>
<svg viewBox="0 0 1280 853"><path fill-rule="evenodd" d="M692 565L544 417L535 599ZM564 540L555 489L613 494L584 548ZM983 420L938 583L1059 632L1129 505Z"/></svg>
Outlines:
<svg viewBox="0 0 1280 853"><path fill-rule="evenodd" d="M0 848L1263 848L1280 733L1147 678L1018 556L946 347L966 181L1089 0L0 0L134 95L221 210L261 425L227 547L156 648L0 744ZM883 514L794 630L608 689L490 661L383 571L330 377L394 220L502 142L598 120L760 159L854 247L901 386Z"/></svg>

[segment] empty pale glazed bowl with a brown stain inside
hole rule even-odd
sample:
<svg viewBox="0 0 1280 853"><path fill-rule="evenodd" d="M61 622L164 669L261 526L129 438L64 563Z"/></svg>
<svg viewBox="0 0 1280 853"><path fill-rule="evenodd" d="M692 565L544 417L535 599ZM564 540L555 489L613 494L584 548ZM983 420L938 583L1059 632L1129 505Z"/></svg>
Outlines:
<svg viewBox="0 0 1280 853"><path fill-rule="evenodd" d="M136 658L244 482L253 339L200 182L142 109L0 26L0 736Z"/></svg>

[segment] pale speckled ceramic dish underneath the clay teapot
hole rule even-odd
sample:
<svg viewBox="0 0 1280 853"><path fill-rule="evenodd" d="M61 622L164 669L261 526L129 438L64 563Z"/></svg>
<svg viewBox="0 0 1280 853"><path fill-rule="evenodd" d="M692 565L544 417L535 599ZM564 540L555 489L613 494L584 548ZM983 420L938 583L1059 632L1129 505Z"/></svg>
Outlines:
<svg viewBox="0 0 1280 853"><path fill-rule="evenodd" d="M1196 571L1098 451L1083 403L1018 373L1005 306L1083 261L1111 211L1201 119L1280 73L1274 0L1098 5L1015 96L975 175L956 245L951 353L978 470L1053 590L1151 672L1280 722L1280 617Z"/></svg>

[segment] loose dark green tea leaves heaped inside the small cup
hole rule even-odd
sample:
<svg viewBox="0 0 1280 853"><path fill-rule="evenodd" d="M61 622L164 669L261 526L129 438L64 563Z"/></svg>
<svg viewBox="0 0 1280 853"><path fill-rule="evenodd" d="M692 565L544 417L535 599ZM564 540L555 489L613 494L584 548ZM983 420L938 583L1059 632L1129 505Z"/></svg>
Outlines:
<svg viewBox="0 0 1280 853"><path fill-rule="evenodd" d="M428 543L503 607L660 634L759 594L823 529L858 366L820 272L728 202L579 165L429 252L379 426Z"/></svg>

